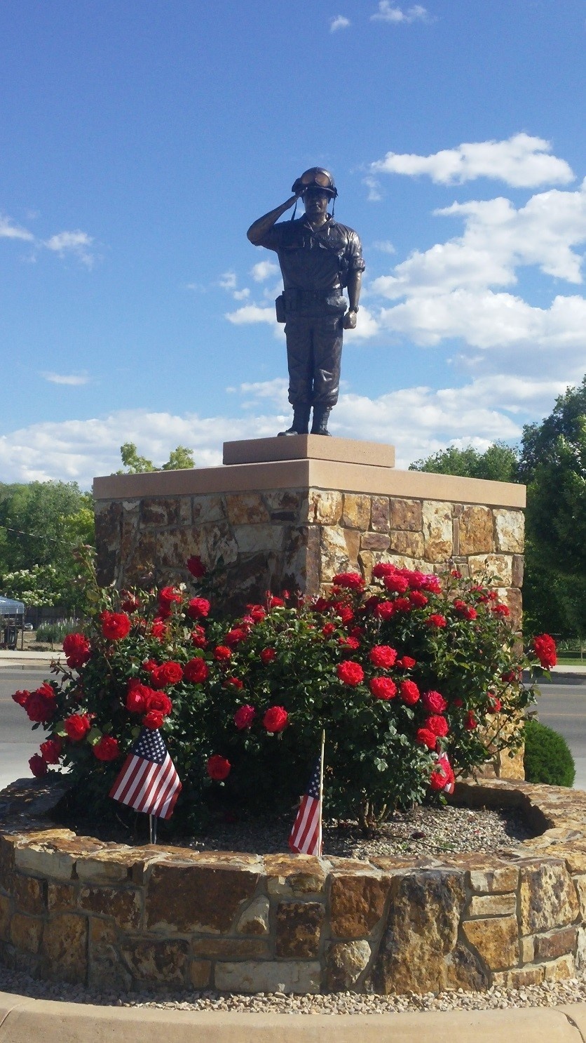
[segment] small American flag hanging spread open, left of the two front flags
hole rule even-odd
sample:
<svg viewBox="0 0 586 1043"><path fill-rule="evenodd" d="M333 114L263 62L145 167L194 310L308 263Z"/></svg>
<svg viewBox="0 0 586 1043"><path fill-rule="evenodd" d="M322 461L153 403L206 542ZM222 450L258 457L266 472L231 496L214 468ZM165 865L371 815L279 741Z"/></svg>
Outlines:
<svg viewBox="0 0 586 1043"><path fill-rule="evenodd" d="M156 729L143 728L110 790L110 797L135 811L170 819L181 782Z"/></svg>

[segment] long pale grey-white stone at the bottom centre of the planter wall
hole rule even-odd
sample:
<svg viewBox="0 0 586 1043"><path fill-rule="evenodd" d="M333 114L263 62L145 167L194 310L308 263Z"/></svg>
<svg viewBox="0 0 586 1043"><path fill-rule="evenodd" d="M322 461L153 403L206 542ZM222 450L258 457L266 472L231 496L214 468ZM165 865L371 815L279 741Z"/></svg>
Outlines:
<svg viewBox="0 0 586 1043"><path fill-rule="evenodd" d="M320 992L317 961L243 961L218 963L215 988L221 992Z"/></svg>

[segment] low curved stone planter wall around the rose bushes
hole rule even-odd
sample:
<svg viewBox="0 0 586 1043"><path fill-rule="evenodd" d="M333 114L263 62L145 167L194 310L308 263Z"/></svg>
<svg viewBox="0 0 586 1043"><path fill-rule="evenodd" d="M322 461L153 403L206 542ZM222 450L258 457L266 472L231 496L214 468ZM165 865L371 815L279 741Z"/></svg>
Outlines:
<svg viewBox="0 0 586 1043"><path fill-rule="evenodd" d="M586 794L460 785L540 835L371 863L0 832L0 959L99 989L427 992L570 977L586 960Z"/></svg>

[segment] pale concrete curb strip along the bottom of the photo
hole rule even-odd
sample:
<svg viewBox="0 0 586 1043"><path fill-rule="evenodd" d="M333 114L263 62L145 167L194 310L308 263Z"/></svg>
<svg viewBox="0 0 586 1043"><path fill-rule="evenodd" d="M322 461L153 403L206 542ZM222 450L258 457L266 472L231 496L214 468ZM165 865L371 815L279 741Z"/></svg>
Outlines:
<svg viewBox="0 0 586 1043"><path fill-rule="evenodd" d="M422 1014L224 1014L92 1006L0 993L0 1043L584 1043L586 1003Z"/></svg>

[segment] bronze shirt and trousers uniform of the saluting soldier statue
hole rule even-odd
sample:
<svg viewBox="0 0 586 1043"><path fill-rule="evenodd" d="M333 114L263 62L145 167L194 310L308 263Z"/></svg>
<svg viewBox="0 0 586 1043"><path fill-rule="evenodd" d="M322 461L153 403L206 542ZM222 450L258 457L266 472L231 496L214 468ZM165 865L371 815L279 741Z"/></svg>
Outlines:
<svg viewBox="0 0 586 1043"><path fill-rule="evenodd" d="M289 402L329 409L339 390L341 291L364 270L360 239L328 215L315 232L305 217L274 224L258 245L276 250L283 275Z"/></svg>

